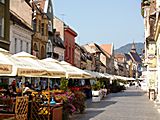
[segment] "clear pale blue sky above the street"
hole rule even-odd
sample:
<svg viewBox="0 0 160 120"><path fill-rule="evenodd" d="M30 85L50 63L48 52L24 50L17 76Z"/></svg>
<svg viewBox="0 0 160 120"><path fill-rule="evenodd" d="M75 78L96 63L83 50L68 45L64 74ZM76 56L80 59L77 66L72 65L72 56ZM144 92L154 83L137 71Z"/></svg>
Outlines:
<svg viewBox="0 0 160 120"><path fill-rule="evenodd" d="M78 33L76 42L144 42L141 0L53 0L54 15Z"/></svg>

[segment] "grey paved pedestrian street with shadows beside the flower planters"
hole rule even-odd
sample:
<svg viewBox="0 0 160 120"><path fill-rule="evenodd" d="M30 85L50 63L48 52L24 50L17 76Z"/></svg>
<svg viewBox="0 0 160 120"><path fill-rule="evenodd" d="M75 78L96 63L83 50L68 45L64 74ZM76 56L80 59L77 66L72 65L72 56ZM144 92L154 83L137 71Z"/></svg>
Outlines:
<svg viewBox="0 0 160 120"><path fill-rule="evenodd" d="M154 103L140 89L129 88L111 93L99 103L86 102L83 114L73 115L73 120L160 120Z"/></svg>

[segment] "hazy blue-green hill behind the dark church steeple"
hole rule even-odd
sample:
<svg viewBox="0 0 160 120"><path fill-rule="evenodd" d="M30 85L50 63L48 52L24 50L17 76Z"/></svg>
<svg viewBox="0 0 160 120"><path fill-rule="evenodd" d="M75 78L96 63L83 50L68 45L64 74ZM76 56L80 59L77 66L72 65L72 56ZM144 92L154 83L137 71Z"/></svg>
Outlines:
<svg viewBox="0 0 160 120"><path fill-rule="evenodd" d="M135 43L135 46L136 46L137 53L141 54L142 50L144 49L144 44L143 43ZM115 49L114 52L115 53L128 53L128 52L130 52L131 47L132 47L132 43L128 43L118 49Z"/></svg>

